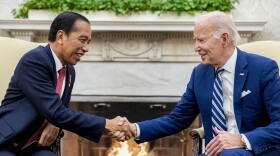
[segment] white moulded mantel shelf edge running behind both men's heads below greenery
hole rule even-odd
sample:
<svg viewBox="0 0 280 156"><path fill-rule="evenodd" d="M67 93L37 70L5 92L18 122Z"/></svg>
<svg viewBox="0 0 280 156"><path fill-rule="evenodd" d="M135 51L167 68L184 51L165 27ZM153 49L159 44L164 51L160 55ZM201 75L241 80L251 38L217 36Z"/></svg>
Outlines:
<svg viewBox="0 0 280 156"><path fill-rule="evenodd" d="M99 31L166 31L192 32L195 21L90 21L92 30ZM51 20L2 19L0 29L48 31ZM239 32L261 32L266 21L235 21Z"/></svg>

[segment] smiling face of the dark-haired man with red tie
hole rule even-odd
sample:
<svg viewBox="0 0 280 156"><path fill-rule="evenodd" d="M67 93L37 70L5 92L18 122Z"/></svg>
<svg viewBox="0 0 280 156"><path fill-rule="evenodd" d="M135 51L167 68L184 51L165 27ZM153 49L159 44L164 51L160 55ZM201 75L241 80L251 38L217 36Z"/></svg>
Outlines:
<svg viewBox="0 0 280 156"><path fill-rule="evenodd" d="M57 40L60 45L58 58L61 63L63 65L75 65L88 52L88 45L91 41L90 24L77 20L68 35L64 31L59 30L57 32Z"/></svg>

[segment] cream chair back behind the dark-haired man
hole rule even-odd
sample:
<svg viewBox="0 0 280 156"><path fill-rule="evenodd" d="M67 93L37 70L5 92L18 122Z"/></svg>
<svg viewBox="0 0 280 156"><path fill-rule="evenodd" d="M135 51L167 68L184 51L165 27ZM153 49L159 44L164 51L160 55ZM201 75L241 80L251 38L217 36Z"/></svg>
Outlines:
<svg viewBox="0 0 280 156"><path fill-rule="evenodd" d="M8 84L19 59L29 50L46 43L35 43L9 37L0 37L0 100L5 96Z"/></svg>

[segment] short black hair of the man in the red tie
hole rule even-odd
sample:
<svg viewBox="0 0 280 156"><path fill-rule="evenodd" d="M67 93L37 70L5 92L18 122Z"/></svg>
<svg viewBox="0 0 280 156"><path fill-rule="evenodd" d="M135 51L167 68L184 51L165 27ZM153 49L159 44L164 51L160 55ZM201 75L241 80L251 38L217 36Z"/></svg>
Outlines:
<svg viewBox="0 0 280 156"><path fill-rule="evenodd" d="M63 12L60 13L52 22L48 40L54 42L56 40L56 34L59 30L63 30L66 35L73 30L73 26L77 20L82 20L90 23L89 20L81 14L75 12Z"/></svg>

